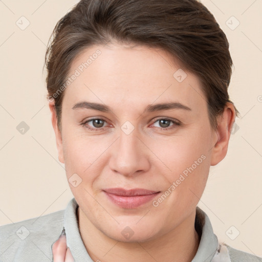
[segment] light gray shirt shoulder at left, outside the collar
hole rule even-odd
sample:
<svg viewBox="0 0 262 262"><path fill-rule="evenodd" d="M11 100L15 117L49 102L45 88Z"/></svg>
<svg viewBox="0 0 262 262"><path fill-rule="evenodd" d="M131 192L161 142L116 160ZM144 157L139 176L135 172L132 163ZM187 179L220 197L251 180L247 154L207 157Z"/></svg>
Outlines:
<svg viewBox="0 0 262 262"><path fill-rule="evenodd" d="M51 245L63 229L63 214L60 210L0 226L0 262L52 260Z"/></svg>

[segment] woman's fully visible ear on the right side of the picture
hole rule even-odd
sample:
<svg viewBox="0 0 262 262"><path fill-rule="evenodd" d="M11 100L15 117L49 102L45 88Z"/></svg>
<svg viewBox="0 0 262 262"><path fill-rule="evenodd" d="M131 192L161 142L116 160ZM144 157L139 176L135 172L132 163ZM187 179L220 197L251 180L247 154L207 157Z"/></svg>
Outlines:
<svg viewBox="0 0 262 262"><path fill-rule="evenodd" d="M217 140L217 142L212 147L211 166L218 164L225 158L234 121L234 106L232 103L227 102L223 115L217 119L216 135L214 134L215 141Z"/></svg>

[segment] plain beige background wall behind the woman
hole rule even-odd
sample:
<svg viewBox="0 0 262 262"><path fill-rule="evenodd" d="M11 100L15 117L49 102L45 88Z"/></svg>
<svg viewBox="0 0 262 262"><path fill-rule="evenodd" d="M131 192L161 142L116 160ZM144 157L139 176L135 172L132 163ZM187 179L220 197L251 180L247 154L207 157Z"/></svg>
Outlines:
<svg viewBox="0 0 262 262"><path fill-rule="evenodd" d="M73 198L57 157L42 67L56 22L77 2L0 2L0 225L64 209ZM210 168L199 206L222 242L262 256L262 1L202 3L230 42L229 94L242 117L236 119L239 129L226 158ZM16 25L21 19L26 25L21 16L30 22L25 30ZM237 20L231 16L240 23L234 30ZM24 135L16 129L21 121L30 127ZM231 226L231 238L240 232L234 240L226 234Z"/></svg>

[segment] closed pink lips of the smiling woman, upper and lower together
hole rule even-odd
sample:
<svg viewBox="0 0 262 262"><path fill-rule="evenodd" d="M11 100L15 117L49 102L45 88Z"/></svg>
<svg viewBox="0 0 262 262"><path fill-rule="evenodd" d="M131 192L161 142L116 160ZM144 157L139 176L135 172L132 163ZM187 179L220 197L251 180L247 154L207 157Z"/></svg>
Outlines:
<svg viewBox="0 0 262 262"><path fill-rule="evenodd" d="M103 192L114 204L128 209L137 208L154 199L160 193L160 191L143 188L107 188L104 189Z"/></svg>

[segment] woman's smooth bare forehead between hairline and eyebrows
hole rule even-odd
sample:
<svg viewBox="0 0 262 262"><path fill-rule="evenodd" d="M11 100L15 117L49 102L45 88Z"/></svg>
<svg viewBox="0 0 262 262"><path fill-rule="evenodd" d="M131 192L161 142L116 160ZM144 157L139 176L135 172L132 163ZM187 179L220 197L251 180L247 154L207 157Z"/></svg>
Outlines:
<svg viewBox="0 0 262 262"><path fill-rule="evenodd" d="M69 77L74 74L64 96L72 103L91 98L125 105L179 101L191 108L206 106L198 77L159 49L93 46L73 60Z"/></svg>

